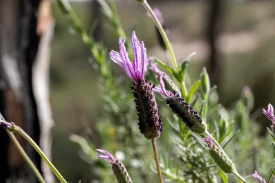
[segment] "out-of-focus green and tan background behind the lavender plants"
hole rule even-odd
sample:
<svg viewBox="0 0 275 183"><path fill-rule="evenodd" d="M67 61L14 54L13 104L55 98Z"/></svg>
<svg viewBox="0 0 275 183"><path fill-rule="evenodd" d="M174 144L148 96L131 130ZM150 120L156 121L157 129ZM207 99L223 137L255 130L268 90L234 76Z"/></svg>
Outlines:
<svg viewBox="0 0 275 183"><path fill-rule="evenodd" d="M118 50L118 37L107 31L108 23L97 1L70 3L94 39L102 41L108 50ZM222 105L232 107L245 85L254 94L256 116L261 114L262 107L275 103L275 1L148 0L148 3L161 10L177 61L180 63L196 52L188 74L190 78L198 78L206 66L212 85L218 85ZM144 41L148 56L165 60L153 21L146 16L144 8L134 0L118 0L115 4L126 35L135 30ZM98 89L102 80L89 64L89 50L71 22L55 2L51 8L54 27L49 45L50 104L55 122L52 160L69 182L77 182L89 177L91 167L81 159L78 147L69 136L85 134L85 125L97 136L96 122L105 115ZM117 65L113 69L118 76L124 74ZM267 120L261 116L259 122L265 129ZM113 133L111 128L106 131L110 136ZM259 136L265 135L260 131ZM94 142L100 147L100 139L95 138Z"/></svg>

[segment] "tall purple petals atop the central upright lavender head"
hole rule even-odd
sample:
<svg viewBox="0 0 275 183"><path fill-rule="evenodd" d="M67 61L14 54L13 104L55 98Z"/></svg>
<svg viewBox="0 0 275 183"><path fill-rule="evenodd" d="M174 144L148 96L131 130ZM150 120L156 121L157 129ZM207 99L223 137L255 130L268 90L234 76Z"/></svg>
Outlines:
<svg viewBox="0 0 275 183"><path fill-rule="evenodd" d="M146 48L144 43L140 44L135 35L135 31L132 34L132 47L133 47L133 62L129 60L128 52L124 46L125 39L120 38L118 44L120 47L120 52L115 52L111 50L111 59L120 65L122 69L126 72L127 76L131 78L135 83L139 83L138 80L144 78L145 72L147 70L148 59L146 55Z"/></svg>

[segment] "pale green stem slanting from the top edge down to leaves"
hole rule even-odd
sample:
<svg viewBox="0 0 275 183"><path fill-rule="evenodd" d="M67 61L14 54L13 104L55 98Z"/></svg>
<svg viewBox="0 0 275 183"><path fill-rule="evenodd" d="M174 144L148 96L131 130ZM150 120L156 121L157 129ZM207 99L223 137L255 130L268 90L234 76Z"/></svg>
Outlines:
<svg viewBox="0 0 275 183"><path fill-rule="evenodd" d="M153 12L151 6L147 3L147 1L146 0L142 1L142 4L143 4L144 8L151 14L151 17L153 18L155 25L157 25L157 28L159 29L159 32L162 35L162 38L164 39L164 43L166 44L166 47L167 47L168 51L170 52L170 55L171 55L171 58L173 61L173 66L174 66L175 70L178 71L179 68L177 66L177 60L176 60L175 53L173 51L172 45L168 39L168 36L166 35L164 28L162 28L162 24L159 22L159 20L155 16L155 13Z"/></svg>

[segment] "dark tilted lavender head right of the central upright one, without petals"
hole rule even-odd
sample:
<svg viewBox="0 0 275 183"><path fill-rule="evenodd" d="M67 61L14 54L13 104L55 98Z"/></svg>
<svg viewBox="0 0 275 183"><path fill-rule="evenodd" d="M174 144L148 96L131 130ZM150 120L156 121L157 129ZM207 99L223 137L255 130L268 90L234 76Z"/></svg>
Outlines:
<svg viewBox="0 0 275 183"><path fill-rule="evenodd" d="M180 98L177 92L173 92L173 94L166 97L166 103L189 129L198 134L206 132L206 122L202 120L202 118L197 114L197 111L188 105L183 98Z"/></svg>

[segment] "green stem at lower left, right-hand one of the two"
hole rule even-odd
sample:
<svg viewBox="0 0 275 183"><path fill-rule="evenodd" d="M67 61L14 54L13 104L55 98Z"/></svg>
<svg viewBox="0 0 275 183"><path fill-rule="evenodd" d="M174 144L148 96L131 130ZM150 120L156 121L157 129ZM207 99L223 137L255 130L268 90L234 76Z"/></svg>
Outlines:
<svg viewBox="0 0 275 183"><path fill-rule="evenodd" d="M54 172L54 174L56 175L56 177L58 177L58 180L60 180L62 183L67 183L67 181L61 175L61 173L58 172L58 170L56 169L56 167L54 166L54 164L52 164L52 162L47 158L47 156L43 153L43 151L36 144L36 142L34 142L34 140L32 140L32 138L30 138L30 136L28 136L28 134L25 133L25 131L23 131L23 129L21 129L18 126L17 126L17 129L18 129L18 133L21 136L23 136L23 138L25 138L25 140L27 140L32 145L32 147L36 150L36 152L39 153L39 155L41 155L41 158L43 158L43 160L45 160L45 162L47 163L47 165L50 166L50 168L52 169L52 171Z"/></svg>

